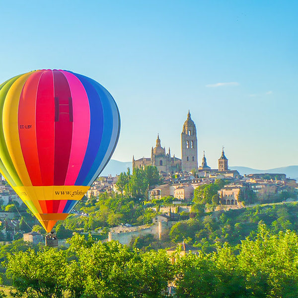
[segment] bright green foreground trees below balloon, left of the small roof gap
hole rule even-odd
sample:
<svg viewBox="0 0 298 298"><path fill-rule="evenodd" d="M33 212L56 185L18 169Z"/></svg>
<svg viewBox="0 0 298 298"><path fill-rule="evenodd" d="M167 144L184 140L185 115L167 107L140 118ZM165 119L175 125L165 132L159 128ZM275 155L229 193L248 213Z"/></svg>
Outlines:
<svg viewBox="0 0 298 298"><path fill-rule="evenodd" d="M115 241L86 241L76 234L64 251L9 255L7 276L15 297L161 298L173 266L165 251L140 254Z"/></svg>

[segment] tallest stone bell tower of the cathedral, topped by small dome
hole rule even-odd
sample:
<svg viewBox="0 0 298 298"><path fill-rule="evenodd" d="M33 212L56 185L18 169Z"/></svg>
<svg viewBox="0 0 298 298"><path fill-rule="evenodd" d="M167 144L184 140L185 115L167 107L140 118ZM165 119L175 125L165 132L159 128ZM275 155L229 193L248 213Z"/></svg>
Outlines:
<svg viewBox="0 0 298 298"><path fill-rule="evenodd" d="M181 133L181 153L182 171L190 172L192 169L198 169L197 130L189 111Z"/></svg>

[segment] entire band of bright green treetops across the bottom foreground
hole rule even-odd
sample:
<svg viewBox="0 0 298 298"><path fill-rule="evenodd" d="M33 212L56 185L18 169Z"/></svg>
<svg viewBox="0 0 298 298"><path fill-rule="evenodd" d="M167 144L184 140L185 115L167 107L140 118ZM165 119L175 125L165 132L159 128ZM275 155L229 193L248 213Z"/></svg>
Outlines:
<svg viewBox="0 0 298 298"><path fill-rule="evenodd" d="M7 274L15 297L162 298L168 283L176 298L298 297L298 234L272 234L260 224L240 245L212 253L141 253L118 242L95 242L79 235L67 250L10 254Z"/></svg>

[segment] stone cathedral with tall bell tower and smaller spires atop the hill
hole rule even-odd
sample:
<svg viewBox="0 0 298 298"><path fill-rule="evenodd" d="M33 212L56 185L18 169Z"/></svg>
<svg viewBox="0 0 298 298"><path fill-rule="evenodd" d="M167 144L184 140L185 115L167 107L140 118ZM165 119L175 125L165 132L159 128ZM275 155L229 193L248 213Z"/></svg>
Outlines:
<svg viewBox="0 0 298 298"><path fill-rule="evenodd" d="M135 159L133 156L133 169L143 168L146 165L154 165L160 173L166 174L180 171L190 172L193 169L198 171L223 172L228 170L227 161L223 148L222 156L219 159L219 168L211 169L210 166L207 165L204 151L202 165L198 167L197 130L188 111L187 119L183 124L181 133L181 159L175 157L175 154L171 157L170 149L165 153L165 148L161 147L159 135L157 135L156 146L151 148L151 157Z"/></svg>

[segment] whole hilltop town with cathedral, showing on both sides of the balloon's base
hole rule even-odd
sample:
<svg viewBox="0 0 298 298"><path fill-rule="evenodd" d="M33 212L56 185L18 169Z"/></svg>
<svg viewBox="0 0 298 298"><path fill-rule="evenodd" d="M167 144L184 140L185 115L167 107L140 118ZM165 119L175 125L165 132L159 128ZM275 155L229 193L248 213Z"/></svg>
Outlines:
<svg viewBox="0 0 298 298"><path fill-rule="evenodd" d="M135 159L133 156L132 173L129 171L115 177L109 175L96 179L87 191L85 199L74 209L70 219L65 221L64 225L69 230L66 234L71 235L73 231L88 232L90 224L86 224L86 222L94 222L90 230L94 232L96 229L97 234L102 233L104 226L109 228L114 238L119 237L119 233L132 233L129 237L124 237L124 243L128 244L133 235L138 235L139 232L136 230L141 231L140 234L146 231L148 227L146 225L142 227L142 224L156 225L158 222L183 221L192 217L192 214L198 213L198 210L202 210L202 208L205 212L227 211L252 207L257 204L278 204L297 200L298 185L295 179L290 179L286 174L280 173L242 176L237 170L229 169L224 148L219 154L218 168L213 169L208 166L205 151L202 163L199 165L196 125L191 119L190 112L182 126L181 151L181 158L176 157L175 154L171 156L170 149L166 152L165 148L161 146L159 135L157 135L156 145L151 148L150 157ZM129 190L128 186L132 183L134 175L136 177L138 175L146 176L145 172L148 168L155 169L156 172L154 173L153 170L153 174L151 173L151 175L155 175L155 180L141 186L139 179L139 182L135 182L135 188L139 187L140 190L135 192ZM223 183L217 183L218 181L223 181ZM207 186L214 185L216 187L212 197L203 198L202 191ZM146 219L144 219L145 216L139 221L136 216L125 219L125 216L117 215L117 212L114 212L115 217L118 216L118 220L110 219L109 222L103 222L103 220L100 224L96 224L92 213L96 212L96 208L90 210L84 206L90 205L90 202L94 200L97 202L100 197L113 196L113 194L135 198L135 207L130 208L142 209L142 212L147 214ZM31 232L29 226L38 225L38 222L26 211L24 203L4 180L0 185L0 200L0 241L20 238L23 233L25 233L24 239L29 239L31 236L26 234L26 232ZM142 203L141 207L139 203ZM108 214L111 217L109 212ZM139 217L142 218L142 215L139 214ZM74 222L75 219L78 224L72 224L73 228L70 229L69 223ZM117 225L119 225L118 228L116 228ZM131 225L133 226L131 227ZM58 230L61 226L63 225L58 224ZM136 228L136 226L139 227ZM84 228L82 229L82 227ZM40 231L40 229L37 228L36 231ZM154 233L158 234L158 229L153 228ZM112 237L111 235L110 237ZM62 237L64 236L62 235ZM39 238L39 241L43 241L39 235L36 237ZM103 237L108 238L108 234L106 233Z"/></svg>

